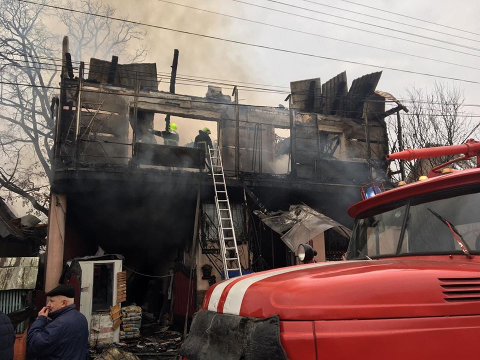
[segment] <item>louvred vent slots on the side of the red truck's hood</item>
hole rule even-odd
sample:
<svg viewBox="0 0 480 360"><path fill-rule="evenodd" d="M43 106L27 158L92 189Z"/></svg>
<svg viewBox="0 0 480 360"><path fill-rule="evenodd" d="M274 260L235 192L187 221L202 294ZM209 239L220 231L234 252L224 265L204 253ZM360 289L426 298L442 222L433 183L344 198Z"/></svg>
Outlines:
<svg viewBox="0 0 480 360"><path fill-rule="evenodd" d="M480 301L480 277L438 278L447 302Z"/></svg>

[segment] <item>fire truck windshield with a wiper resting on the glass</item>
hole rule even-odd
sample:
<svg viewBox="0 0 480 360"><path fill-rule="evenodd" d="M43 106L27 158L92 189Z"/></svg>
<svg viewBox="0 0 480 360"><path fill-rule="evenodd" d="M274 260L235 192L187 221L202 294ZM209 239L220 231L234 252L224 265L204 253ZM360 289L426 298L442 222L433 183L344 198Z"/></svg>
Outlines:
<svg viewBox="0 0 480 360"><path fill-rule="evenodd" d="M478 191L468 188L409 198L360 215L353 227L347 259L480 254Z"/></svg>

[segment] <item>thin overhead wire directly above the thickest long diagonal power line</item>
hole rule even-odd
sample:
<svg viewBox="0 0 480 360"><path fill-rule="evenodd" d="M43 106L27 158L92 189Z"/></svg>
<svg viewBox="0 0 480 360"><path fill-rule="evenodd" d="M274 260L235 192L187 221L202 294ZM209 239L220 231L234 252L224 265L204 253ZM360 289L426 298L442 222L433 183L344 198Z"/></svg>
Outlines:
<svg viewBox="0 0 480 360"><path fill-rule="evenodd" d="M180 3L176 3L176 2L172 2L172 1L168 1L168 0L157 0L157 1L161 1L161 2L164 2L164 3L169 3L169 4L172 4L172 5L182 6L182 7L198 10L198 11L204 11L204 12L208 12L208 13L212 13L212 14L216 14L216 15L221 15L221 16L225 16L225 17L230 17L230 18L234 18L234 19L238 19L238 20L248 21L248 22L252 22L252 23L256 23L256 24L260 24L260 25L265 25L265 26L275 27L275 28L279 28L279 29L283 29L283 30L298 32L298 33L302 33L302 34L306 34L306 35L312 35L312 36L322 37L322 38L326 38L326 39L330 39L330 40L341 41L341 42L350 43L350 44L354 44L354 45L364 46L364 47L368 47L368 48L374 48L376 50L388 51L388 52L397 53L397 54L401 54L401 55L407 55L407 56L412 56L412 57L416 57L416 58L422 58L422 59L425 59L425 60L431 60L431 61L435 61L435 62L446 63L448 65L455 65L455 66L471 68L471 69L474 69L474 70L480 70L480 67L463 65L463 64L459 64L459 63L455 63L455 62L440 60L438 58L426 57L426 56L421 56L421 55L417 55L417 54L413 54L413 53L391 50L391 49L387 49L387 48L384 48L384 47L367 45L367 44L363 44L363 43L360 43L360 42L344 40L344 39L337 38L337 37L325 36L325 35L321 35L319 33L302 31L302 30L291 28L291 27L285 27L285 26L270 24L270 23L267 23L267 22L256 21L256 20L252 20L252 19L248 19L248 18L240 17L240 16L228 15L228 14L225 14L225 13L206 10L206 9L202 9L202 8L198 8L198 7L194 7L194 6L189 6L189 5L185 5L185 4L180 4ZM304 1L307 1L307 0L304 0Z"/></svg>

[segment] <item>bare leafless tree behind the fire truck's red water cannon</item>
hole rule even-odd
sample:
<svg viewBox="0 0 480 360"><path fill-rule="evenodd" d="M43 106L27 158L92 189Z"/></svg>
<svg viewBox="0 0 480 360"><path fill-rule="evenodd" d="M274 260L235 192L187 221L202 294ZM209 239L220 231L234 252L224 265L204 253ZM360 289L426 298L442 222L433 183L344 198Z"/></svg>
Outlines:
<svg viewBox="0 0 480 360"><path fill-rule="evenodd" d="M411 86L407 89L409 112L401 121L403 148L424 148L463 143L476 127L465 111L463 91L455 84L435 82L431 91ZM391 151L398 151L396 121L389 122ZM405 161L407 180L416 180L432 167L455 156ZM462 166L462 164L458 164ZM393 176L399 180L400 175Z"/></svg>

